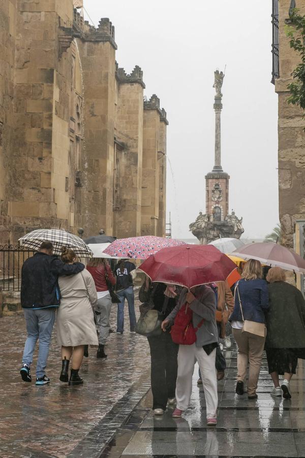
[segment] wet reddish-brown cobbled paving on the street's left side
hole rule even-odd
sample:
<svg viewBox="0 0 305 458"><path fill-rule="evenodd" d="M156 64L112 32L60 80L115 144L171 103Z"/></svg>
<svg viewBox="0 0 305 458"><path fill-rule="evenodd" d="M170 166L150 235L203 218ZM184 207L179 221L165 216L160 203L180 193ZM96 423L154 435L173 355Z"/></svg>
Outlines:
<svg viewBox="0 0 305 458"><path fill-rule="evenodd" d="M114 305L111 313L114 330L115 323ZM97 359L96 349L89 349L89 358L84 358L80 371L84 385L68 387L59 382L61 361L55 326L47 367L51 383L37 387L33 382L22 382L19 374L25 340L23 316L0 319L2 458L64 458L78 443L82 443L85 435L99 424L135 382L140 379L141 387L146 387L147 391L149 348L146 338L129 333L127 307L125 327L124 335L110 334L107 360ZM36 356L37 351L32 366L34 377ZM140 400L134 399L135 404ZM125 402L127 404L120 407L121 411L126 407L132 410L133 397L125 399ZM124 415L118 417L124 418ZM102 443L101 438L99 443Z"/></svg>

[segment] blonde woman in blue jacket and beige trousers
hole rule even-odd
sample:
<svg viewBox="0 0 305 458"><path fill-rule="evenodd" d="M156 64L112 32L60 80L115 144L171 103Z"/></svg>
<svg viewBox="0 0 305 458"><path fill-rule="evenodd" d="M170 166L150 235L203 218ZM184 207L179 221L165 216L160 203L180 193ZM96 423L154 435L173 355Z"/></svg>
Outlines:
<svg viewBox="0 0 305 458"><path fill-rule="evenodd" d="M230 317L233 336L238 346L236 393L239 395L244 393L244 381L249 362L249 399L257 398L257 382L266 337L244 332L242 327L244 320L266 323L265 313L268 309L268 286L266 280L262 279L262 276L261 263L250 259L243 268L242 278L236 283L234 309Z"/></svg>

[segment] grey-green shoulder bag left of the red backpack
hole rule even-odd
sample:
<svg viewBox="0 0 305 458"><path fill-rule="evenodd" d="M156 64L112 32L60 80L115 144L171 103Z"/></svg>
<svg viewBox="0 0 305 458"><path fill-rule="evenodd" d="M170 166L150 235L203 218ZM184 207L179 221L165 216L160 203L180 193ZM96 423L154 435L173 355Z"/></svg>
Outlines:
<svg viewBox="0 0 305 458"><path fill-rule="evenodd" d="M164 298L162 312L152 310L151 308L142 308L142 313L137 321L135 331L137 334L144 335L145 337L153 337L162 334L162 322L164 320L164 313L168 304L168 297ZM149 304L154 306L152 296L149 298ZM143 304L145 306L145 304Z"/></svg>

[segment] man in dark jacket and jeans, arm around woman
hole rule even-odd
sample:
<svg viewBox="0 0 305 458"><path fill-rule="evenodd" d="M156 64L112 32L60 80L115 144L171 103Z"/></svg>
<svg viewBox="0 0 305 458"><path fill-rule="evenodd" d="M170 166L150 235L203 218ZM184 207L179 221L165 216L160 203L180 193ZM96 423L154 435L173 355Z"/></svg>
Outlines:
<svg viewBox="0 0 305 458"><path fill-rule="evenodd" d="M81 263L64 264L53 256L52 252L52 243L43 242L40 251L24 262L21 271L21 306L24 309L27 339L20 374L24 382L32 382L30 367L36 342L39 339L36 385L50 382L46 377L45 368L55 310L60 304L58 276L75 275L84 269Z"/></svg>

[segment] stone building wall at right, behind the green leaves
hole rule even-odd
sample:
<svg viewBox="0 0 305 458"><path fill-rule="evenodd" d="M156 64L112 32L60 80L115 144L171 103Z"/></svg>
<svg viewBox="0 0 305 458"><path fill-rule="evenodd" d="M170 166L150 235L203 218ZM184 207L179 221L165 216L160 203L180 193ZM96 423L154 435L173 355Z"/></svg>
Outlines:
<svg viewBox="0 0 305 458"><path fill-rule="evenodd" d="M305 14L304 0L272 0L272 82L279 96L279 213L283 231L281 243L293 247L294 224L305 219L305 121L303 111L288 104L291 73L299 55L290 48L285 26L292 25L290 8Z"/></svg>

